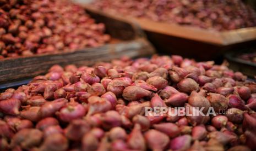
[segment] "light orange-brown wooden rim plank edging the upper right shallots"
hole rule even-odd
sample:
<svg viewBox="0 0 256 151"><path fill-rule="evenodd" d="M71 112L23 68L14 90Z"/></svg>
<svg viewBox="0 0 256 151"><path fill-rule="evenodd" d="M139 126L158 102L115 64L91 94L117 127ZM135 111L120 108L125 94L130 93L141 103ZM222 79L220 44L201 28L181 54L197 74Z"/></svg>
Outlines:
<svg viewBox="0 0 256 151"><path fill-rule="evenodd" d="M101 10L97 10L90 4L85 4L85 8L93 11L94 13L106 14L110 18L123 19L123 17L118 14L113 15L108 14L107 12L103 12ZM159 33L172 37L186 38L220 46L227 46L237 43L248 42L250 40L256 40L256 27L241 28L238 30L221 32L206 30L199 27L181 26L178 24L156 22L143 18L126 17L126 20L138 22L141 28L148 32Z"/></svg>

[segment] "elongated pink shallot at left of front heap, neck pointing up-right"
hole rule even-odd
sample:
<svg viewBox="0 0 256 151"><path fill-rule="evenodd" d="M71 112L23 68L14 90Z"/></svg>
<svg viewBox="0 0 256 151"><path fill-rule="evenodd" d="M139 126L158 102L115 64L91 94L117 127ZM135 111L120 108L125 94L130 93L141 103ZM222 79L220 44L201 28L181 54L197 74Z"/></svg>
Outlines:
<svg viewBox="0 0 256 151"><path fill-rule="evenodd" d="M52 102L47 102L43 104L39 111L41 118L51 117L53 114L55 114L55 112L61 109L67 102L68 100L66 100L65 98L58 98Z"/></svg>

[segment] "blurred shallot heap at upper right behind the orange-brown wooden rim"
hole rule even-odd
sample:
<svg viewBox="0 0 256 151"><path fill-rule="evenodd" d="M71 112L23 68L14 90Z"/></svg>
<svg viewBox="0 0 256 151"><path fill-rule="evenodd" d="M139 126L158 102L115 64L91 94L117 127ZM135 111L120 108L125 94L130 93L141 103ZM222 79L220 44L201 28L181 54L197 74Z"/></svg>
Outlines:
<svg viewBox="0 0 256 151"><path fill-rule="evenodd" d="M241 0L97 0L108 13L217 31L256 26L256 13Z"/></svg>

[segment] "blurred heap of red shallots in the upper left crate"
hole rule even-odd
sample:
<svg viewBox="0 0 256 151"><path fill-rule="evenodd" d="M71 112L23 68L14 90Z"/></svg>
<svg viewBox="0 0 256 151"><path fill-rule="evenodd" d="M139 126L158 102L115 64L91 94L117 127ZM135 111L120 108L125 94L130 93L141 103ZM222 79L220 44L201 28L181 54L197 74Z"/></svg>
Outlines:
<svg viewBox="0 0 256 151"><path fill-rule="evenodd" d="M0 1L0 59L97 47L110 40L104 32L66 0Z"/></svg>

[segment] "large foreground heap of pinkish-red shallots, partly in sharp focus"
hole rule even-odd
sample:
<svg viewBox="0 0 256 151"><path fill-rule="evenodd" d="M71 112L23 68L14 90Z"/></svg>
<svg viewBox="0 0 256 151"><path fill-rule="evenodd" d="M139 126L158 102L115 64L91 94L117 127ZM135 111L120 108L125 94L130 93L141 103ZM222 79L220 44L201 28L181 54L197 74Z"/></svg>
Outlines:
<svg viewBox="0 0 256 151"><path fill-rule="evenodd" d="M217 115L145 116L146 107ZM175 55L55 65L2 92L0 111L1 150L256 149L256 83Z"/></svg>

